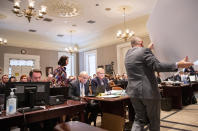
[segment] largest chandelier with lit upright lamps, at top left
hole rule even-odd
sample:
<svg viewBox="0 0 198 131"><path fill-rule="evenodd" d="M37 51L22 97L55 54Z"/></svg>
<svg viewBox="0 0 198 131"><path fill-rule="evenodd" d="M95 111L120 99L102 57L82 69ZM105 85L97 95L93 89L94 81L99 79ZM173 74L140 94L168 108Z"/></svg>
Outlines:
<svg viewBox="0 0 198 131"><path fill-rule="evenodd" d="M46 14L46 6L41 5L41 9L38 11L38 15L36 13L36 11L34 10L34 0L28 0L29 1L29 5L27 9L24 10L20 10L20 0L15 0L14 2L14 6L13 6L13 13L16 14L16 16L18 17L22 17L25 16L28 21L30 22L31 18L34 16L36 17L36 20L42 19L43 15Z"/></svg>

